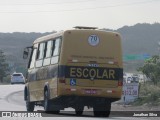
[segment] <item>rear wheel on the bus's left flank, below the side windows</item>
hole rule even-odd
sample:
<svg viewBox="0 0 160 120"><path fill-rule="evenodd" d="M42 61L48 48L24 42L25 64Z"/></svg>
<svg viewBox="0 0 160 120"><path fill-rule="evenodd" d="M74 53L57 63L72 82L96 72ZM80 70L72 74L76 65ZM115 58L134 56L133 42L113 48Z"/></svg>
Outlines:
<svg viewBox="0 0 160 120"><path fill-rule="evenodd" d="M50 102L49 102L48 90L44 91L44 111L45 112L49 112L50 111Z"/></svg>

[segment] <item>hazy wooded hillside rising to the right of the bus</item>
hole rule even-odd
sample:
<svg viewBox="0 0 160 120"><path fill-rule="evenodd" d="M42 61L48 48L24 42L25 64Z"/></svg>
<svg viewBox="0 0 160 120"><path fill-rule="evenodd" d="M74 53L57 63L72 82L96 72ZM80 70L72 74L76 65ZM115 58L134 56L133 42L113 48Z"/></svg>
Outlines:
<svg viewBox="0 0 160 120"><path fill-rule="evenodd" d="M117 30L122 35L124 54L158 54L160 24L136 24Z"/></svg>

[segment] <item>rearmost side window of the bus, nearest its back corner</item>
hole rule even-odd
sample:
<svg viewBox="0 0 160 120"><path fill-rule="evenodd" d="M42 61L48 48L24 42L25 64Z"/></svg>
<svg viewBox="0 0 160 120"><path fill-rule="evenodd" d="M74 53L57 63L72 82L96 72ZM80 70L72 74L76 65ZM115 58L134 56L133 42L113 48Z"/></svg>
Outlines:
<svg viewBox="0 0 160 120"><path fill-rule="evenodd" d="M53 41L51 64L58 63L60 41L61 41L60 38L57 38L55 41Z"/></svg>

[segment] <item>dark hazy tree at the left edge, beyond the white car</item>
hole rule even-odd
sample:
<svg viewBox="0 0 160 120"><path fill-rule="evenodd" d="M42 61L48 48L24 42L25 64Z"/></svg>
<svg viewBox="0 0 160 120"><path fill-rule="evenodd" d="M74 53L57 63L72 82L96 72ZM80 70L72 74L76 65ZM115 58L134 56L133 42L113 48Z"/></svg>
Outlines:
<svg viewBox="0 0 160 120"><path fill-rule="evenodd" d="M3 82L3 78L7 76L8 72L9 67L6 63L4 52L0 50L0 82Z"/></svg>

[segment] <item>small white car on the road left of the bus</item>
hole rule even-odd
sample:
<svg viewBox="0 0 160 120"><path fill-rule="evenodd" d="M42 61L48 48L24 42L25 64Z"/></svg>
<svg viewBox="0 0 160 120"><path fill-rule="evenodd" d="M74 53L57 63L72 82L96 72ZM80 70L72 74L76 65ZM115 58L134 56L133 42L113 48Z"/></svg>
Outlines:
<svg viewBox="0 0 160 120"><path fill-rule="evenodd" d="M13 73L11 75L11 84L24 84L25 78L22 73Z"/></svg>

